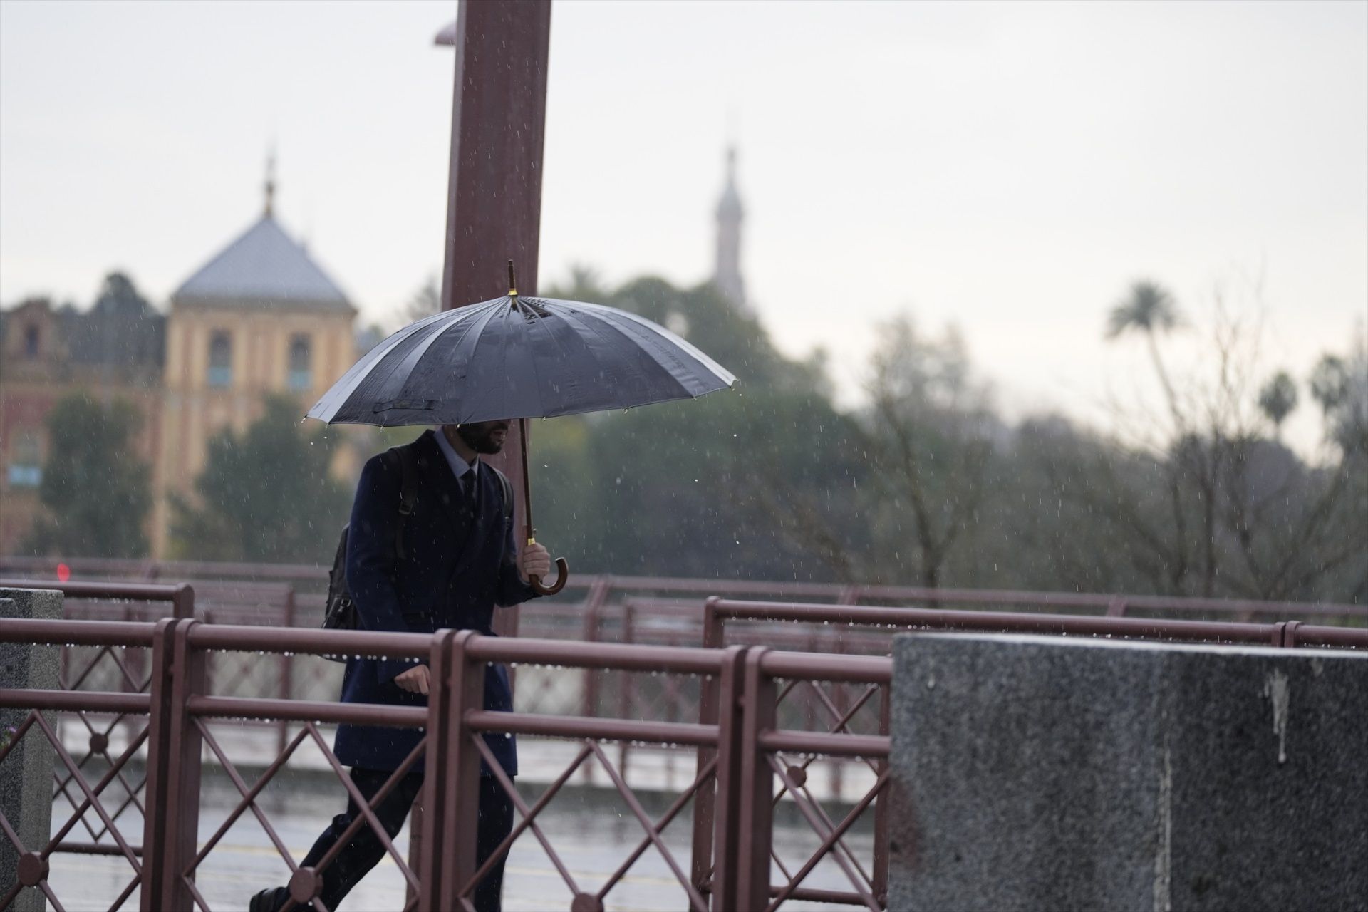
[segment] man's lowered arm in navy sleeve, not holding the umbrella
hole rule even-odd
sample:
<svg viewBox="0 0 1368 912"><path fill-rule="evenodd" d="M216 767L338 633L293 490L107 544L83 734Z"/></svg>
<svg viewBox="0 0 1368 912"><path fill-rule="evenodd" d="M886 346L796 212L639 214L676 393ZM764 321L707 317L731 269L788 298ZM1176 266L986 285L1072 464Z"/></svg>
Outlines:
<svg viewBox="0 0 1368 912"><path fill-rule="evenodd" d="M361 481L352 500L352 526L346 546L346 584L356 602L357 618L367 630L408 633L409 625L399 610L395 585L394 535L399 524L399 474L382 455L372 457L361 469ZM380 681L419 662L382 659Z"/></svg>

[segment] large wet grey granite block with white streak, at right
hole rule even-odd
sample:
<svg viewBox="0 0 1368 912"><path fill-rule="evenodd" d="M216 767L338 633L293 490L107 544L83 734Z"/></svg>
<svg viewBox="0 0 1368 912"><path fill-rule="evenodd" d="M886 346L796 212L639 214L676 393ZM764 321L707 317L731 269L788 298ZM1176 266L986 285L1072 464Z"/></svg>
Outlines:
<svg viewBox="0 0 1368 912"><path fill-rule="evenodd" d="M1368 909L1368 655L893 655L891 909Z"/></svg>

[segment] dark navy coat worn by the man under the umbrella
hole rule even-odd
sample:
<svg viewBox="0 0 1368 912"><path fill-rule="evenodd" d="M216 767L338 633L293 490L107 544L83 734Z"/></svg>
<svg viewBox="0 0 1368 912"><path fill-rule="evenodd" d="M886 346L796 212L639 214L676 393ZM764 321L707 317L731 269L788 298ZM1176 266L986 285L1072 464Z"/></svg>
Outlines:
<svg viewBox="0 0 1368 912"><path fill-rule="evenodd" d="M372 457L361 470L347 535L346 582L358 626L367 630L431 633L442 628L492 634L495 606L527 602L535 592L518 577L513 522L503 507L503 485L490 466L479 468L473 510L442 455L436 432L415 443L417 491L404 524L404 554L395 554L399 521L398 465ZM350 659L342 678L345 703L427 706L421 693L394 684L419 660ZM486 666L484 708L512 710L508 670ZM398 768L417 745L417 729L338 726L334 749L346 766ZM486 744L509 775L517 774L512 736L486 734ZM421 770L419 762L416 770ZM486 770L487 773L487 770Z"/></svg>

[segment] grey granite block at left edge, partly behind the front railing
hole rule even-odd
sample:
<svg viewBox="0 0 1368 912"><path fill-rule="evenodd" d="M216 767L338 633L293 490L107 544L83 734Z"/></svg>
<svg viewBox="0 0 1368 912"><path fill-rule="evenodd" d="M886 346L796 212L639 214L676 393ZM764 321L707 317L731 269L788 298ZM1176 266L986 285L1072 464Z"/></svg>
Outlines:
<svg viewBox="0 0 1368 912"><path fill-rule="evenodd" d="M0 589L0 623L4 618L62 617L62 593L48 589ZM0 643L0 688L56 689L59 649L55 645ZM18 729L27 710L0 708L0 732ZM42 732L30 729L0 763L0 811L26 850L48 844L52 829L52 764L56 752ZM0 835L0 885L8 890L19 876L19 852ZM22 890L10 908L42 912L48 900L40 890Z"/></svg>

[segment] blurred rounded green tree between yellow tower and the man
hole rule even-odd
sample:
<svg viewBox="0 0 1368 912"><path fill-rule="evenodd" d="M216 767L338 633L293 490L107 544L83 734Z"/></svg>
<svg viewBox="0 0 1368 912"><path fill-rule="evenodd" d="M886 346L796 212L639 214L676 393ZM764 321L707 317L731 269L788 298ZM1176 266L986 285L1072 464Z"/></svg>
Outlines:
<svg viewBox="0 0 1368 912"><path fill-rule="evenodd" d="M349 491L328 474L337 435L302 427L298 403L267 399L241 436L209 440L196 480L198 505L172 498L171 536L182 556L208 561L331 561Z"/></svg>

